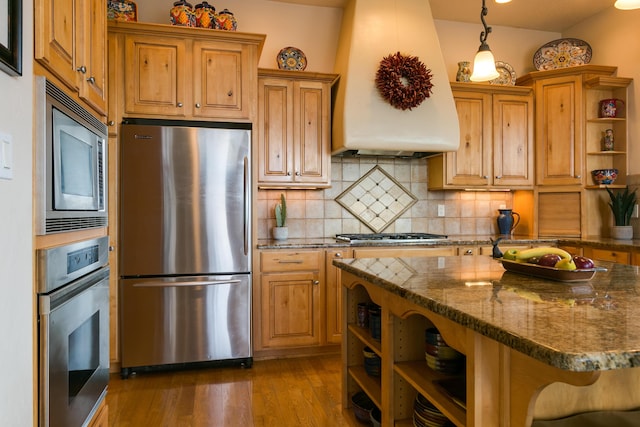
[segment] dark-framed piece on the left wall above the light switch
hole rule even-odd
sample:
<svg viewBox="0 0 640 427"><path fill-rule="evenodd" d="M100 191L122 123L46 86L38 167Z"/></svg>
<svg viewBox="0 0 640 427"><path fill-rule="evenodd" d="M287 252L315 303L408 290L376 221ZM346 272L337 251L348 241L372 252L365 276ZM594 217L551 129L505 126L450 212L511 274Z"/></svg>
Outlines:
<svg viewBox="0 0 640 427"><path fill-rule="evenodd" d="M22 75L22 0L0 0L0 70Z"/></svg>

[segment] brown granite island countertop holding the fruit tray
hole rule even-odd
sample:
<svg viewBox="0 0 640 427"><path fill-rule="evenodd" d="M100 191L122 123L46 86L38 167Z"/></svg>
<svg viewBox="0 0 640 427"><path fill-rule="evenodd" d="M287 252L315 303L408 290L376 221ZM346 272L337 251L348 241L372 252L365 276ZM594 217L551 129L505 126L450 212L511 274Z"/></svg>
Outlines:
<svg viewBox="0 0 640 427"><path fill-rule="evenodd" d="M489 256L362 258L333 264L549 365L640 366L640 272L599 261L590 281L504 270Z"/></svg>

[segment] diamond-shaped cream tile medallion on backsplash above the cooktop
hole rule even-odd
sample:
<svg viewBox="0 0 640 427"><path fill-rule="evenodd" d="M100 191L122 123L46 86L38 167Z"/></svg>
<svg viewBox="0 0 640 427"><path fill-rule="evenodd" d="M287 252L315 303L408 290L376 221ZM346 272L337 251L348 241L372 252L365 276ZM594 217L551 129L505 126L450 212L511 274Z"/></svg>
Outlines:
<svg viewBox="0 0 640 427"><path fill-rule="evenodd" d="M336 202L375 233L390 226L417 201L379 165L336 198Z"/></svg>

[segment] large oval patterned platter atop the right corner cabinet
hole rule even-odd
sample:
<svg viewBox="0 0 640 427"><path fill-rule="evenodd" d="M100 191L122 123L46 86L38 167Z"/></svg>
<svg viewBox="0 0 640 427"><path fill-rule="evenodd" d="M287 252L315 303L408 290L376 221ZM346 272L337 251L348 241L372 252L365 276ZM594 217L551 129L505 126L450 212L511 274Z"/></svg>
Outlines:
<svg viewBox="0 0 640 427"><path fill-rule="evenodd" d="M575 67L591 62L591 46L580 39L558 39L541 46L533 55L539 71Z"/></svg>

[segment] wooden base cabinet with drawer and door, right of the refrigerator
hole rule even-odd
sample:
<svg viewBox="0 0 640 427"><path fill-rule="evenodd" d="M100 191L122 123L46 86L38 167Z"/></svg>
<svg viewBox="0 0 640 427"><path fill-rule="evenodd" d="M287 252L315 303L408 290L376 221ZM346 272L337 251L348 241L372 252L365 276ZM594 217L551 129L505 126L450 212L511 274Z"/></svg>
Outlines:
<svg viewBox="0 0 640 427"><path fill-rule="evenodd" d="M323 251L260 253L259 349L321 343ZM259 303L257 302L259 301Z"/></svg>

